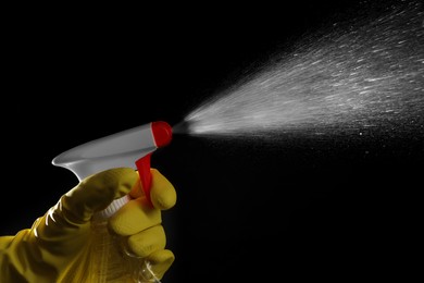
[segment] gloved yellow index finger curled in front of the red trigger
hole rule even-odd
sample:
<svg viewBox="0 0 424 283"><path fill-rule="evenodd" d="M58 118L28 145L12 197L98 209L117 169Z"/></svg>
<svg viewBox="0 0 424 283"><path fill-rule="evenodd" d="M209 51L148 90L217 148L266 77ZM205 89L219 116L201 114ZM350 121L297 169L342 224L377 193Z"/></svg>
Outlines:
<svg viewBox="0 0 424 283"><path fill-rule="evenodd" d="M151 169L151 174L150 197L153 206L161 210L166 210L175 206L176 192L171 182L155 169Z"/></svg>

